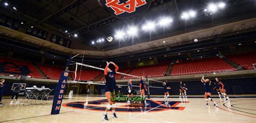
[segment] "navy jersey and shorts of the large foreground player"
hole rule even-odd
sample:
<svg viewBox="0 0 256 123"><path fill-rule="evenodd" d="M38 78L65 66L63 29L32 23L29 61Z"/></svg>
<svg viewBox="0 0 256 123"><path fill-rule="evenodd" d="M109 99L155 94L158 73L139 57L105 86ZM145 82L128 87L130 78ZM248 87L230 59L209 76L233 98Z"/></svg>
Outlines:
<svg viewBox="0 0 256 123"><path fill-rule="evenodd" d="M117 91L117 83L116 79L114 78L114 74L116 74L116 71L107 72L107 75L105 75L105 88L109 88L111 90L114 89Z"/></svg>

